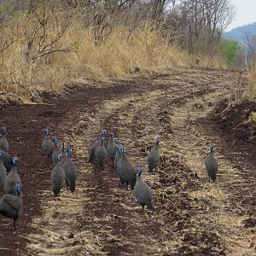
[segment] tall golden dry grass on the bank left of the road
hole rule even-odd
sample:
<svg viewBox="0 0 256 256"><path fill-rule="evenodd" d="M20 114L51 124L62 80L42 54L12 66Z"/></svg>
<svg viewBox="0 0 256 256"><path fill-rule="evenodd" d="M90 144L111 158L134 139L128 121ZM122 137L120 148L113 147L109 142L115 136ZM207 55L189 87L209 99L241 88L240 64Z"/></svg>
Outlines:
<svg viewBox="0 0 256 256"><path fill-rule="evenodd" d="M44 16L24 15L0 28L0 90L23 102L84 78L127 78L191 64L182 49L147 21L132 30L113 26L96 44L95 26L67 20L61 12Z"/></svg>

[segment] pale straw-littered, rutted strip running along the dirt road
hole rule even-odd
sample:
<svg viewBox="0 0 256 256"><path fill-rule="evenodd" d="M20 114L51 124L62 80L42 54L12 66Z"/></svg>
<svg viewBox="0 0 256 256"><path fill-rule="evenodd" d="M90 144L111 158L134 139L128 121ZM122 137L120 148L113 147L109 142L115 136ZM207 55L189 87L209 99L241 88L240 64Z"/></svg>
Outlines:
<svg viewBox="0 0 256 256"><path fill-rule="evenodd" d="M109 84L102 94L99 89L95 96L85 96L86 104L80 102L75 113L62 104L65 122L62 118L55 132L65 132L74 148L78 189L74 195L63 190L61 198L53 198L49 167L42 167L42 213L24 235L25 254L236 255L242 249L253 255L249 230L241 225L252 209L245 206L242 211L232 190L240 183L253 188L253 179L237 170L239 161L230 161L207 117L238 76L214 70L171 71ZM83 94L76 99L83 101ZM153 215L141 216L132 192L119 188L109 163L103 172L88 163L87 150L102 127L118 134L133 165L143 170L148 149L157 135L162 137L158 171L143 173L154 189ZM210 184L203 164L209 138L217 143L220 162L218 182ZM247 169L242 161L239 165Z"/></svg>

